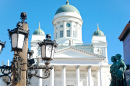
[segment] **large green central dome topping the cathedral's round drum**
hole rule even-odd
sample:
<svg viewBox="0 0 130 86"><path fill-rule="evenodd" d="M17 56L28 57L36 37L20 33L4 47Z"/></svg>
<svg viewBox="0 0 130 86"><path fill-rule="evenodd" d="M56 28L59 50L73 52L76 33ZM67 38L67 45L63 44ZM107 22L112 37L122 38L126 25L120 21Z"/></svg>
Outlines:
<svg viewBox="0 0 130 86"><path fill-rule="evenodd" d="M76 7L74 7L74 6L72 6L72 5L69 5L68 1L66 2L66 5L61 6L56 11L55 15L58 14L58 13L62 13L62 12L75 12L75 13L78 13L80 15L78 9Z"/></svg>

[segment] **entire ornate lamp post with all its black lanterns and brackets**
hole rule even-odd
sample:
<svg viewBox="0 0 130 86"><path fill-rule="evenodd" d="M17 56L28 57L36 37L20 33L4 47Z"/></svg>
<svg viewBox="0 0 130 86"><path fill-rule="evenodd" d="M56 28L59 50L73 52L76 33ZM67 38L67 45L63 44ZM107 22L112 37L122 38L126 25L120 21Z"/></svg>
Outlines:
<svg viewBox="0 0 130 86"><path fill-rule="evenodd" d="M14 51L14 58L13 58L12 64L11 66L6 66L6 65L0 66L1 72L3 74L3 75L0 75L0 77L8 76L10 79L7 81L7 84L10 84L11 82L10 74L13 74L14 80L12 80L12 82L14 82L14 84L12 86L15 86L16 84L20 83L21 77L23 77L21 76L23 70L25 71L24 73L27 73L25 74L25 77L24 77L25 79L27 79L27 82L25 80L24 85L26 83L30 83L30 79L33 76L37 78L42 78L42 79L48 78L50 76L50 69L52 69L52 67L49 67L49 63L53 59L54 50L57 47L56 41L52 41L50 39L51 35L47 34L46 36L47 39L38 43L39 46L41 47L41 58L43 61L45 61L45 66L39 66L37 64L34 64L35 63L34 59L30 58L33 55L33 51L30 50L28 52L24 52L25 48L28 49L28 47L25 47L25 42L27 44L28 41L25 41L25 40L28 39L28 34L29 34L28 29L27 30L23 29L23 25L25 24L24 23L25 19L27 19L27 14L25 12L21 13L21 19L22 21L17 23L16 28L14 28L13 30L8 29L9 37L11 38L12 51ZM4 47L4 44L5 43L0 42L0 52L2 48ZM26 58L23 56L21 57L21 53L28 54L29 58ZM27 60L27 62L25 60ZM27 70L23 69L22 67L23 65L24 67L27 68ZM46 76L44 77L39 76L37 74L37 69L45 69ZM32 73L32 70L35 70L35 72Z"/></svg>

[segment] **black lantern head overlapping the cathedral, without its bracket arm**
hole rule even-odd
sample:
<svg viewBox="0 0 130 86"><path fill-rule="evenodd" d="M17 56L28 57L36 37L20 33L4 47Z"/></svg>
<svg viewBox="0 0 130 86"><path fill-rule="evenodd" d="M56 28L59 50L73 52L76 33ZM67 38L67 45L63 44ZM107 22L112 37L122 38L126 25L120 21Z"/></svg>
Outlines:
<svg viewBox="0 0 130 86"><path fill-rule="evenodd" d="M57 47L56 41L52 41L51 35L46 35L47 39L44 39L43 42L38 43L41 47L41 57L44 61L50 61L53 59L55 48Z"/></svg>

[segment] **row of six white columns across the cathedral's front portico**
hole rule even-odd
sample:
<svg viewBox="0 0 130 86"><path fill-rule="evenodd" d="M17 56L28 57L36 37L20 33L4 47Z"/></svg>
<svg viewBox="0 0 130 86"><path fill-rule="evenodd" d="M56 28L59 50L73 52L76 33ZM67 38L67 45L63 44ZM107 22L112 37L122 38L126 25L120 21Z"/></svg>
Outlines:
<svg viewBox="0 0 130 86"><path fill-rule="evenodd" d="M54 86L54 66L52 66L53 69L51 70L50 74L50 86ZM87 66L87 86L92 86L92 66ZM102 66L99 66L98 70L98 86L102 86ZM40 76L43 75L42 69L39 70ZM39 85L42 86L42 79L39 78ZM62 86L66 86L66 65L62 66ZM76 66L76 86L80 85L80 65Z"/></svg>

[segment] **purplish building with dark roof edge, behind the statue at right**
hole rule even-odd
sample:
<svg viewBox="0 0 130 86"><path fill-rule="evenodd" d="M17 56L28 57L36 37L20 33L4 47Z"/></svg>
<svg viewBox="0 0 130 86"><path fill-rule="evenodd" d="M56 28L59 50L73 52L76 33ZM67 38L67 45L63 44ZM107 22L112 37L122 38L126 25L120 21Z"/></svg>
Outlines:
<svg viewBox="0 0 130 86"><path fill-rule="evenodd" d="M126 65L130 65L130 21L125 26L118 39L123 42L124 62ZM130 86L130 69L126 70L126 82L127 86Z"/></svg>

